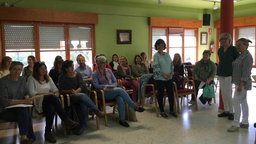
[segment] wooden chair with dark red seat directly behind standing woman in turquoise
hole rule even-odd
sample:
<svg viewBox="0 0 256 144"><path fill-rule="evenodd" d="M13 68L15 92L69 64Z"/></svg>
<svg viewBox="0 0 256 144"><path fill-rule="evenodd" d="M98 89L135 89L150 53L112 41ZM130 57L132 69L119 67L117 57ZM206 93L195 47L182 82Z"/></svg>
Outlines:
<svg viewBox="0 0 256 144"><path fill-rule="evenodd" d="M144 108L144 102L145 102L145 97L150 97L151 95L154 96L154 103L155 103L155 109L156 109L156 115L157 117L159 117L159 113L158 113L158 106L157 106L157 96L158 96L158 93L157 93L157 90L156 90L156 85L155 85L155 81L154 81L154 78L151 77L149 80L148 80L148 83L144 85L144 94L142 96L142 106ZM163 106L165 106L165 102L166 102L166 97L167 97L167 92L165 91L164 92L164 99L163 99ZM176 108L176 101L174 99L174 108L175 108L175 112L177 110Z"/></svg>

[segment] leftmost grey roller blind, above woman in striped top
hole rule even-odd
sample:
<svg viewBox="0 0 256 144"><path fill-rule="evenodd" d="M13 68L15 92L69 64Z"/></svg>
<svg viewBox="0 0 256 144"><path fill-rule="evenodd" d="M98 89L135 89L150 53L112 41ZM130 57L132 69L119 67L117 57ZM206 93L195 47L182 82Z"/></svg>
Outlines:
<svg viewBox="0 0 256 144"><path fill-rule="evenodd" d="M24 24L5 24L6 50L34 49L34 26Z"/></svg>

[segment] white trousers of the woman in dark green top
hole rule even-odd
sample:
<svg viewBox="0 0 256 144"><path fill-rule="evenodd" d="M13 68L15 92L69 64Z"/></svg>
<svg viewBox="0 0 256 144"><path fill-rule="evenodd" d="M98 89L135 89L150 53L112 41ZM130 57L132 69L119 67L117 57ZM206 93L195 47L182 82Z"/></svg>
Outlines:
<svg viewBox="0 0 256 144"><path fill-rule="evenodd" d="M232 101L232 77L221 77L218 76L221 88L221 95L224 105L224 111L234 113L233 101Z"/></svg>

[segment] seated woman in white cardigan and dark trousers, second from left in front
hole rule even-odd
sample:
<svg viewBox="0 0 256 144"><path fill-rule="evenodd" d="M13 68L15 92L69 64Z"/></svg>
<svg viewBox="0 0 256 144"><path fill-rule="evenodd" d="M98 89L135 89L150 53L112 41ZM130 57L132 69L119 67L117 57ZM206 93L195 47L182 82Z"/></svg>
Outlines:
<svg viewBox="0 0 256 144"><path fill-rule="evenodd" d="M51 77L47 74L45 63L36 62L33 67L33 74L28 79L29 95L38 99L38 104L34 106L35 113L45 112L45 140L50 143L56 143L56 139L51 134L52 123L55 112L58 113L61 120L66 125L67 129L75 128L78 123L70 120L64 113L61 102L59 101L59 90L56 88ZM42 107L41 107L42 106ZM39 108L39 109L36 109ZM34 111L34 110L33 110ZM32 113L33 115L33 113Z"/></svg>

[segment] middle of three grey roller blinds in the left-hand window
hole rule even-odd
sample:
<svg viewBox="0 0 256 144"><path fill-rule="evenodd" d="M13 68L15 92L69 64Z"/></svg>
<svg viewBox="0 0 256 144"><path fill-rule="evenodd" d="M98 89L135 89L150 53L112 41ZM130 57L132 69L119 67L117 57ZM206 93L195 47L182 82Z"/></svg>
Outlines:
<svg viewBox="0 0 256 144"><path fill-rule="evenodd" d="M64 26L39 26L40 49L65 48Z"/></svg>

